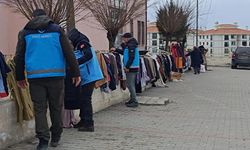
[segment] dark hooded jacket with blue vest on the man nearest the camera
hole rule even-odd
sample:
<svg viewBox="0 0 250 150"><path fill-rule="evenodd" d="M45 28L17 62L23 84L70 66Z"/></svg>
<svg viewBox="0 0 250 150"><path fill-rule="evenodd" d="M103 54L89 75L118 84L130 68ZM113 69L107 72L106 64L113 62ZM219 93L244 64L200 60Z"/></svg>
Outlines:
<svg viewBox="0 0 250 150"><path fill-rule="evenodd" d="M63 29L47 16L29 21L18 34L15 54L16 80L64 78L65 63L72 77L80 76L78 63Z"/></svg>

